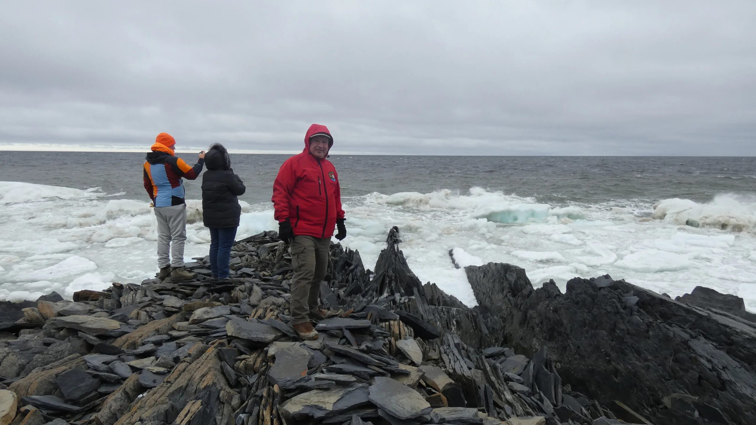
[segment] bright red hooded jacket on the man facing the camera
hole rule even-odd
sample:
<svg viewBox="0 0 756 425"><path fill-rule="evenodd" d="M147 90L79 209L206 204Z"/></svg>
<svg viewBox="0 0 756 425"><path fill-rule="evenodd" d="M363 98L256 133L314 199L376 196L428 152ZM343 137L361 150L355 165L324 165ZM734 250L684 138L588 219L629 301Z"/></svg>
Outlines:
<svg viewBox="0 0 756 425"><path fill-rule="evenodd" d="M278 222L289 220L296 235L332 237L336 219L344 218L341 188L336 168L329 160L310 154L310 137L325 133L326 126L313 124L305 135L305 150L290 157L278 170L273 183L273 206Z"/></svg>

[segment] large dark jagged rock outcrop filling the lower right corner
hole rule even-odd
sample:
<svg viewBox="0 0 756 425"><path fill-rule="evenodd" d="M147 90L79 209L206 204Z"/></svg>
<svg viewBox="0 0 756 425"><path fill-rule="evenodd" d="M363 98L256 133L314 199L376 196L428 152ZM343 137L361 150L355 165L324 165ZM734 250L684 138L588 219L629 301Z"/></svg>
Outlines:
<svg viewBox="0 0 756 425"><path fill-rule="evenodd" d="M572 279L561 293L553 281L534 290L513 265L466 274L481 306L499 315L507 346L526 355L548 349L563 382L618 416L670 424L756 418L750 321L608 276Z"/></svg>

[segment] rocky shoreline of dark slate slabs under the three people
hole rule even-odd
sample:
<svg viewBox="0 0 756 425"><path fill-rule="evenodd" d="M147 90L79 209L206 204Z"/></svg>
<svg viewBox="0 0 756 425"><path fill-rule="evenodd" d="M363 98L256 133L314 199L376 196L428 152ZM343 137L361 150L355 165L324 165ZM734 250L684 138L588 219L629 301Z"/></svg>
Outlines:
<svg viewBox="0 0 756 425"><path fill-rule="evenodd" d="M756 324L742 299L608 276L534 290L466 268L479 306L422 284L398 229L375 271L331 247L320 337L287 325L290 256L237 241L233 282L156 279L0 306L0 425L748 424Z"/></svg>

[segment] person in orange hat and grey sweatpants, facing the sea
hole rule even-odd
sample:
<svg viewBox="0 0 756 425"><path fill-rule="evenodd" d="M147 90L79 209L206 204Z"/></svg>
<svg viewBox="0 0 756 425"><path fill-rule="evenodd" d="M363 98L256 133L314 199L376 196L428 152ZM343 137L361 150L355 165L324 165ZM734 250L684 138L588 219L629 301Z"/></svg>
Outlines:
<svg viewBox="0 0 756 425"><path fill-rule="evenodd" d="M169 276L173 281L194 278L184 267L184 243L187 239L187 206L181 178L194 180L202 172L205 151L194 166L175 156L176 141L168 133L160 133L152 152L144 161L144 189L155 206L157 218L158 278ZM172 254L172 257L171 257Z"/></svg>

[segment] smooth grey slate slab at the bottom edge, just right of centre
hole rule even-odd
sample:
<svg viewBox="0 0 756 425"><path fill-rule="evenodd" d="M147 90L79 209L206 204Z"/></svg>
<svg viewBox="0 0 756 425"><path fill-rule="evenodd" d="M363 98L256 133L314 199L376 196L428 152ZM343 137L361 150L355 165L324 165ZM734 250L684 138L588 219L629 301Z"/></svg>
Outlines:
<svg viewBox="0 0 756 425"><path fill-rule="evenodd" d="M370 402L399 419L414 419L433 409L419 392L392 378L376 377L370 386Z"/></svg>

